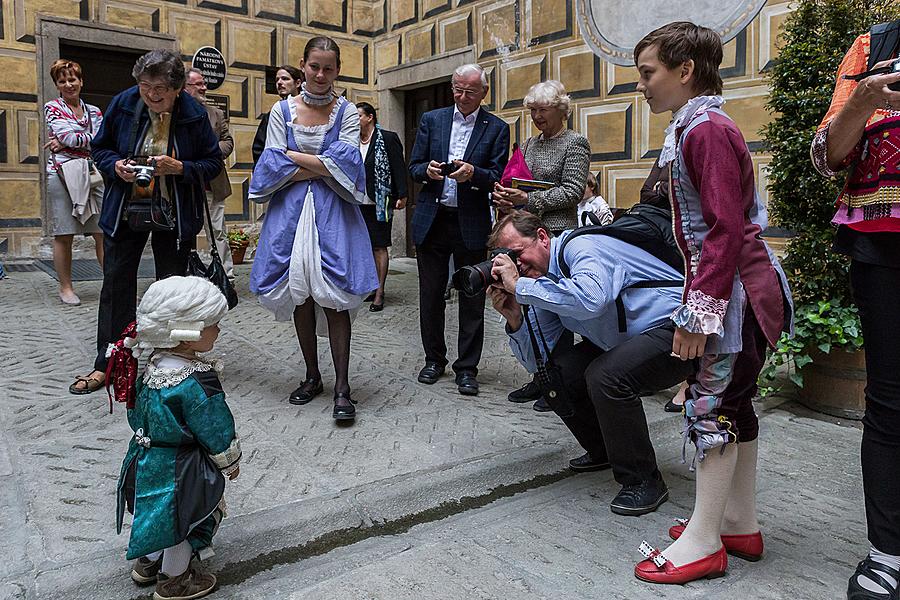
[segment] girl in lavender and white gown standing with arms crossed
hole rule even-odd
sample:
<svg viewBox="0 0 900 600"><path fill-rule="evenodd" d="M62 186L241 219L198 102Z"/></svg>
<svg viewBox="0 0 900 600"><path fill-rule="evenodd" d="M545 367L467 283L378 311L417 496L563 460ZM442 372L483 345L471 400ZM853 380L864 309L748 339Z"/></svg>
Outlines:
<svg viewBox="0 0 900 600"><path fill-rule="evenodd" d="M334 40L312 38L300 63L306 76L300 95L272 107L250 185L251 200L269 203L250 290L276 320L293 317L306 379L291 393L291 404L306 404L323 390L316 325L325 335L327 322L333 416L343 421L356 415L347 377L351 317L378 288L378 276L358 206L366 191L359 114L333 89L340 66Z"/></svg>

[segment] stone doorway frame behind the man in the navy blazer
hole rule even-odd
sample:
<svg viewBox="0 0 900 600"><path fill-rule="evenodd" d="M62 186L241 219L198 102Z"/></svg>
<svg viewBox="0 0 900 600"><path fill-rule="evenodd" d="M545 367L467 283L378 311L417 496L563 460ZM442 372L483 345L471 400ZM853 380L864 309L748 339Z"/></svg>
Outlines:
<svg viewBox="0 0 900 600"><path fill-rule="evenodd" d="M378 71L378 122L390 131L402 132L406 118L406 92L449 79L457 67L477 63L475 46L466 46L437 56ZM401 138L403 136L401 135ZM404 148L407 158L412 148ZM397 211L399 214L401 211ZM405 209L404 211L405 212ZM405 215L403 222L406 222ZM406 227L394 228L394 256L406 255ZM399 250L399 253L397 252Z"/></svg>

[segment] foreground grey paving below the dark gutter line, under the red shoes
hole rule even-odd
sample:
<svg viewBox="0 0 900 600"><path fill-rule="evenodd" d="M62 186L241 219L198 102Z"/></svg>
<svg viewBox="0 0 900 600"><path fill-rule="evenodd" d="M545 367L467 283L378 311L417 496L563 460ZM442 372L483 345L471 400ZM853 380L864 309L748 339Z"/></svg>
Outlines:
<svg viewBox="0 0 900 600"><path fill-rule="evenodd" d="M726 577L685 586L637 581L641 540L664 547L687 516L693 477L674 428L654 436L672 501L640 518L613 515L609 472L569 477L483 508L416 525L289 565L218 597L291 600L841 598L867 551L857 476L858 429L775 410L762 419L759 503L766 555L729 557ZM850 475L848 475L850 474ZM839 524L839 527L836 527Z"/></svg>

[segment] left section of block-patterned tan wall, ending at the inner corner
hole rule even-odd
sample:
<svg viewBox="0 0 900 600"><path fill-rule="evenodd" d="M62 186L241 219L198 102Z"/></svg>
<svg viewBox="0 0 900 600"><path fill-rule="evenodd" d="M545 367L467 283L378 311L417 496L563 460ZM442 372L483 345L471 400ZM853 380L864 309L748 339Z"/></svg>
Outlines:
<svg viewBox="0 0 900 600"><path fill-rule="evenodd" d="M201 46L219 48L228 75L210 93L229 97L235 138L227 161L235 193L226 218L246 223L261 212L246 199L251 142L259 116L277 100L265 93L265 67L296 65L310 37L331 35L342 50L338 85L357 99L369 89L373 41L384 33L375 15L384 10L383 2L369 0L0 0L0 253L41 254L40 107L49 98L39 97L39 78L48 77L38 65L39 16L168 34L186 61ZM122 88L131 84L123 81Z"/></svg>

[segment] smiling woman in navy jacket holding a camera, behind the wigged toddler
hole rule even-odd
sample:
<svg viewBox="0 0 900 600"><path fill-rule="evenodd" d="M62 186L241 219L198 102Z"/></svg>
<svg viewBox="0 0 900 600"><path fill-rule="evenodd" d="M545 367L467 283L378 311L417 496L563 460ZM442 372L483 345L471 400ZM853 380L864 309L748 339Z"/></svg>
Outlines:
<svg viewBox="0 0 900 600"><path fill-rule="evenodd" d="M203 227L204 186L222 169L219 139L206 109L184 91L184 63L169 50L152 50L131 72L137 85L110 102L91 154L106 179L100 228L104 236L103 289L97 313L94 370L69 386L89 394L106 377L106 348L135 317L137 270L151 238L156 278L184 275L197 233ZM137 119L137 127L134 122ZM155 164L150 187L135 184L137 161ZM136 231L123 220L132 195L160 194L172 206L171 231Z"/></svg>

